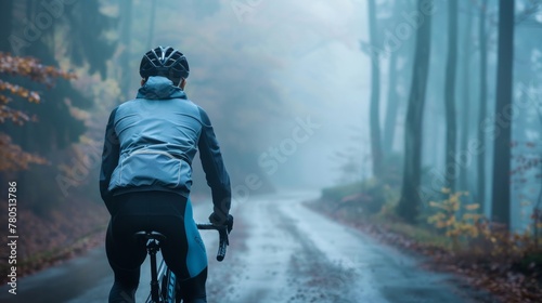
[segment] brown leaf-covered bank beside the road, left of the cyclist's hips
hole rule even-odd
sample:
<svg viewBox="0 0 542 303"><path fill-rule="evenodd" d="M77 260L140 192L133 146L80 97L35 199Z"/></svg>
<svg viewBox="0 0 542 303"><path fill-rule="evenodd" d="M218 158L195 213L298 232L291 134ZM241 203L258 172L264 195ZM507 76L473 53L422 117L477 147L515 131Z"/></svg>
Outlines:
<svg viewBox="0 0 542 303"><path fill-rule="evenodd" d="M8 202L5 202L7 205ZM0 218L8 218L7 208ZM81 255L103 243L108 221L105 207L86 199L63 203L47 214L20 208L17 211L17 277L28 276ZM8 273L8 246L0 248L0 272ZM8 276L2 275L2 282Z"/></svg>

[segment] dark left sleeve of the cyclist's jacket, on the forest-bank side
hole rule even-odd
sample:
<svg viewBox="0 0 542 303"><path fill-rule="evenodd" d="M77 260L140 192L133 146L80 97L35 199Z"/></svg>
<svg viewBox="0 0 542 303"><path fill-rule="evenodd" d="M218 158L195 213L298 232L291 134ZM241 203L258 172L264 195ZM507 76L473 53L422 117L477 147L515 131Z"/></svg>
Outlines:
<svg viewBox="0 0 542 303"><path fill-rule="evenodd" d="M105 205L108 206L113 195L107 190L109 186L111 175L118 164L118 157L120 150L120 144L118 142L118 136L115 133L115 114L117 108L113 109L109 115L109 120L107 121L107 127L105 128L105 139L102 153L102 167L100 168L100 194Z"/></svg>

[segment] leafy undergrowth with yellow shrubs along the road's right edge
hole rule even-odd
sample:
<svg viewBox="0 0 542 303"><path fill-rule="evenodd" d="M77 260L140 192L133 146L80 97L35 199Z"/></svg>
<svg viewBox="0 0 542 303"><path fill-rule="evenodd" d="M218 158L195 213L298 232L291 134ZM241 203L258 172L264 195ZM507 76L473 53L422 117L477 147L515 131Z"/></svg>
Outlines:
<svg viewBox="0 0 542 303"><path fill-rule="evenodd" d="M433 268L463 275L503 302L542 302L540 218L512 233L481 214L468 193L441 188L440 198L424 203L411 224L397 215L399 190L397 184L369 179L324 188L311 207L401 250L430 256Z"/></svg>

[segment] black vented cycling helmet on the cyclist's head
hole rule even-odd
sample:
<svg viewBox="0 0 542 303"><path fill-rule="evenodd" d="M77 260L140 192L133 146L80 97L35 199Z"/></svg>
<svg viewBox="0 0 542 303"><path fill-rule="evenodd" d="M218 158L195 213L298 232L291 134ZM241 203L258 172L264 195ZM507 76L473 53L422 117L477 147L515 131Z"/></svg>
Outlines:
<svg viewBox="0 0 542 303"><path fill-rule="evenodd" d="M190 68L186 57L181 52L171 47L158 47L143 56L139 74L144 79L151 76L164 76L178 84L181 78L189 78Z"/></svg>

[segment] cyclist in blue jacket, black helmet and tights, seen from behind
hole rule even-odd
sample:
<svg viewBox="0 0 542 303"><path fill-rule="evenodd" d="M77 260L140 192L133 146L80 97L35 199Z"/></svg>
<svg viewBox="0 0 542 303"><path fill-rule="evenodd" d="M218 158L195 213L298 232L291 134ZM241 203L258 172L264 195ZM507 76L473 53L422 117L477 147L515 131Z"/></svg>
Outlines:
<svg viewBox="0 0 542 303"><path fill-rule="evenodd" d="M144 229L166 236L162 254L181 280L184 302L207 302L207 255L189 198L196 150L212 193L212 224L225 224L231 186L209 117L184 93L189 73L178 50L149 51L137 98L111 113L100 172L112 215L105 239L115 274L109 302L134 301L146 250L132 235Z"/></svg>

